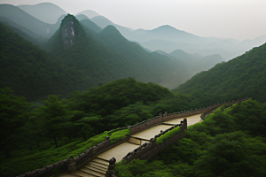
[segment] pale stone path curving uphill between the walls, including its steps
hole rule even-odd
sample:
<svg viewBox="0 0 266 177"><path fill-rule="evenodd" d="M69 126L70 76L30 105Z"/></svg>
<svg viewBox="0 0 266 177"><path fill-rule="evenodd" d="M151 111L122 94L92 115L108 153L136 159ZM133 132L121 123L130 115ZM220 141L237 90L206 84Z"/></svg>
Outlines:
<svg viewBox="0 0 266 177"><path fill-rule="evenodd" d="M201 113L184 117L187 119L187 126L192 126L193 124L200 122L202 120L200 119L200 115ZM131 135L128 142L123 142L113 147L111 150L106 150L104 153L98 155L97 158L94 158L86 165L83 165L82 168L78 169L76 172L71 174L61 174L58 177L105 177L110 158L116 158L116 162L121 161L121 159L124 158L130 151L137 149L140 144L149 142L155 135L160 134L161 130L164 131L169 127L179 124L184 118L172 119L146 129L136 135Z"/></svg>

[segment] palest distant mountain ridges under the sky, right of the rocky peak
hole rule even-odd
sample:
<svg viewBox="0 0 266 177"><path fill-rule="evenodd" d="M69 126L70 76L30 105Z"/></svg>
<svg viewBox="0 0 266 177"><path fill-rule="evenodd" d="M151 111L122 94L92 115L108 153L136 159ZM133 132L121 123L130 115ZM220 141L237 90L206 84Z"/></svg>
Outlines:
<svg viewBox="0 0 266 177"><path fill-rule="evenodd" d="M232 38L200 37L168 25L152 30L132 30L129 27L114 24L103 16L97 16L91 20L102 28L113 25L129 41L138 42L147 50L163 50L167 53L174 50L184 50L203 56L219 54L224 60L236 58L245 53L246 50L251 50L266 41L265 36L244 42Z"/></svg>

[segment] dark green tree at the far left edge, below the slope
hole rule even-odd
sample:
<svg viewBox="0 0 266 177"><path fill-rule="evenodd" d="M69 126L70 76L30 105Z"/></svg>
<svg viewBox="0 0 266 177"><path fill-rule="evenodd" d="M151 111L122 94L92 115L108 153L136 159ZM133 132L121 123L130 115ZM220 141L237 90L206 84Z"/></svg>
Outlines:
<svg viewBox="0 0 266 177"><path fill-rule="evenodd" d="M15 96L11 88L0 88L0 150L4 151L6 158L10 150L16 149L22 142L22 127L27 122L32 105L26 102L25 97Z"/></svg>

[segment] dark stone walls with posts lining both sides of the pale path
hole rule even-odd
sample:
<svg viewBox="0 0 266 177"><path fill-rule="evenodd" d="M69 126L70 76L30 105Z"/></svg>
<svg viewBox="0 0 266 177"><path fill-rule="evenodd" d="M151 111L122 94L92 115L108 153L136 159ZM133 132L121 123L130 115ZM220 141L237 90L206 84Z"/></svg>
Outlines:
<svg viewBox="0 0 266 177"><path fill-rule="evenodd" d="M247 99L249 98L244 98L238 101L226 102L223 104L236 104L238 102L246 101ZM164 114L160 113L160 115L157 117L154 117L152 119L147 119L145 121L137 123L134 126L129 126L128 128L131 130L131 135L135 135L138 132L144 131L145 129L156 126L157 124L160 124L164 121L168 121L171 119L184 118L184 117L188 117L188 116L192 116L192 115L200 114L200 113L203 113L201 119L204 119L208 114L210 114L211 112L214 112L215 109L217 109L219 106L223 104L214 104L212 106L208 106L207 108L200 108L200 109L195 109L195 110L185 111L185 112L174 112L170 114L168 114L168 112L165 112ZM151 139L151 142L140 145L133 152L129 152L129 154L125 157L125 159L127 161L131 161L135 158L140 158L140 159L153 158L155 154L159 153L160 151L164 150L169 145L173 144L177 140L182 139L184 137L184 128L186 129L187 127L186 122L185 122L185 125L184 125L184 122L182 122L178 126L181 126L182 128L182 131L179 134L171 137L166 142L163 142L160 145L156 145L156 138L168 132L172 127L168 128L167 131L164 131L160 133L159 135L155 135L155 137ZM117 128L113 131L118 131L124 128L126 127ZM129 138L126 138L126 139L129 139ZM118 143L121 143L121 142L118 142ZM75 169L82 167L82 165L89 162L92 158L95 158L96 156L98 156L98 154L103 153L106 150L109 150L115 145L116 144L111 145L111 141L109 137L107 136L104 142L98 143L97 146L91 147L90 149L84 151L81 155L79 155L76 158L73 158L73 157L66 158L52 165L47 165L47 166L44 166L43 168L36 169L33 172L27 172L24 174L20 174L17 177L48 177L48 176L54 175L59 172L60 173L67 172L67 171L71 172Z"/></svg>

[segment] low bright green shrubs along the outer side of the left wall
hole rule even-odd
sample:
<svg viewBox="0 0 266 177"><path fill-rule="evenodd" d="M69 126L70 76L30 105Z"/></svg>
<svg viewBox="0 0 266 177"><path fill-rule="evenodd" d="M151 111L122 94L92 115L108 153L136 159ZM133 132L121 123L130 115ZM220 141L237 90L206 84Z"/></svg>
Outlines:
<svg viewBox="0 0 266 177"><path fill-rule="evenodd" d="M91 137L88 141L82 142L82 139L76 139L74 142L69 142L66 145L61 144L59 148L51 147L49 142L45 142L43 148L39 150L13 150L11 154L12 158L1 161L0 173L3 177L10 177L31 172L71 156L77 157L90 147L105 141L106 136L109 136L114 143L126 138L129 134L129 129L113 132L111 134L110 131L106 131L103 134ZM66 140L62 139L61 143L63 141ZM45 148L48 147L49 149L45 150Z"/></svg>

